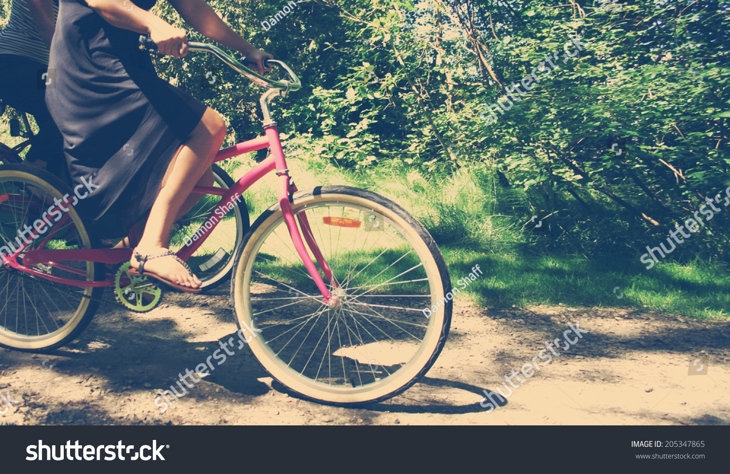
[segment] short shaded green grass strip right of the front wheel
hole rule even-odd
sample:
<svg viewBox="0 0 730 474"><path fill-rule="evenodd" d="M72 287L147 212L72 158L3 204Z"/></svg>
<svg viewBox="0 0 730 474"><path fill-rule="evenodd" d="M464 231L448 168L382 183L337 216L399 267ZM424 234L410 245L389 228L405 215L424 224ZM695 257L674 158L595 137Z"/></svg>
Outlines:
<svg viewBox="0 0 730 474"><path fill-rule="evenodd" d="M699 319L724 320L729 314L726 268L699 260L685 266L659 263L646 270L633 260L485 255L453 247L442 247L442 252L454 286L480 265L483 276L463 294L491 308L563 303L665 311ZM623 298L618 298L621 293Z"/></svg>

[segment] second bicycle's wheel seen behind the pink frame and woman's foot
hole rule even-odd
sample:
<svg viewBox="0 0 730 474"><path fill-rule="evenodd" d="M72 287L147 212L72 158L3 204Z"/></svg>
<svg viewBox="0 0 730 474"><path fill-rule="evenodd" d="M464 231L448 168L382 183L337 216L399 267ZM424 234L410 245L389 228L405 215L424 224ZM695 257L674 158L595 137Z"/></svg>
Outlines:
<svg viewBox="0 0 730 474"><path fill-rule="evenodd" d="M223 168L213 165L215 187L228 189L234 181ZM175 222L170 234L169 248L177 252L186 242L190 241L197 232L208 214L218 204L219 196L204 195L203 198L182 219ZM191 271L203 282L202 288L208 289L222 283L233 268L234 255L241 245L247 232L250 221L245 201L235 203L233 209L218 219L218 225L212 230L196 252L188 258Z"/></svg>

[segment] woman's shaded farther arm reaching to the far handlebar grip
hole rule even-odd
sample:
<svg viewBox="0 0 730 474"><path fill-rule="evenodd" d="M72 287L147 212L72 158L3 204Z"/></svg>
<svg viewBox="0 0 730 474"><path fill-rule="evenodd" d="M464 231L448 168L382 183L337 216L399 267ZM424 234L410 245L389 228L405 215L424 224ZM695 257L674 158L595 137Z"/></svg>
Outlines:
<svg viewBox="0 0 730 474"><path fill-rule="evenodd" d="M271 55L256 49L256 47L243 39L242 36L233 31L204 0L168 1L190 26L213 41L225 44L232 50L237 50L242 55L245 55L249 61L256 63L259 74L264 73L261 60L264 56L270 57ZM266 69L266 71L271 71L271 69Z"/></svg>

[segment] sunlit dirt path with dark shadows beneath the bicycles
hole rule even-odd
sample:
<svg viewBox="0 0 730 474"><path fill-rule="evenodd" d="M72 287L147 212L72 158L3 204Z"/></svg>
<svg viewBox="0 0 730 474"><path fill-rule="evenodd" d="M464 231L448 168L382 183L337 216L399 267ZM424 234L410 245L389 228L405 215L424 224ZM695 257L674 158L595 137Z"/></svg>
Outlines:
<svg viewBox="0 0 730 474"><path fill-rule="evenodd" d="M155 389L194 371L234 335L227 290L167 292L146 314L126 311L107 292L78 342L46 355L0 349L0 393L17 400L0 424L730 424L730 323L464 303L455 305L434 368L386 403L350 409L289 397L242 349L161 414ZM564 342L569 322L588 331L573 344ZM494 390L555 338L568 349L556 349L539 371L526 368L534 375L523 382L513 378L511 395L502 388L507 403L487 413L483 389ZM707 374L689 376L697 357Z"/></svg>

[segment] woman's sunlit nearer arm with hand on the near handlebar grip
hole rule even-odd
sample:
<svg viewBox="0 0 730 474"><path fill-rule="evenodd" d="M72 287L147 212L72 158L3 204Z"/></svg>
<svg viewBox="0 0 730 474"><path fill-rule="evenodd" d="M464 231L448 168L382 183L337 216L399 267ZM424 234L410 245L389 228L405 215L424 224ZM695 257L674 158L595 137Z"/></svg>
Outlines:
<svg viewBox="0 0 730 474"><path fill-rule="evenodd" d="M94 12L117 28L148 34L162 54L182 58L188 54L185 30L169 25L165 20L137 7L129 0L85 0Z"/></svg>

